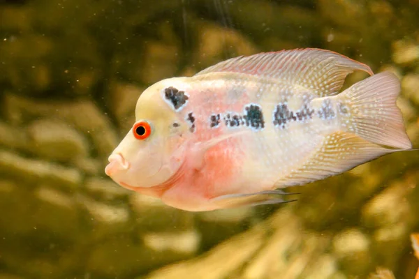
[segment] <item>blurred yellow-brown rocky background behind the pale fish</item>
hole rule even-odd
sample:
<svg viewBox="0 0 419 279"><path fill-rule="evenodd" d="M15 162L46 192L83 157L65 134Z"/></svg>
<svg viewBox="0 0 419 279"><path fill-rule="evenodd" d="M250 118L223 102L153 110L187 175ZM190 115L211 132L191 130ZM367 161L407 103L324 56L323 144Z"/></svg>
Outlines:
<svg viewBox="0 0 419 279"><path fill-rule="evenodd" d="M418 18L418 0L0 0L0 278L413 278L418 151L205 213L103 168L147 86L295 47L396 73L418 147Z"/></svg>

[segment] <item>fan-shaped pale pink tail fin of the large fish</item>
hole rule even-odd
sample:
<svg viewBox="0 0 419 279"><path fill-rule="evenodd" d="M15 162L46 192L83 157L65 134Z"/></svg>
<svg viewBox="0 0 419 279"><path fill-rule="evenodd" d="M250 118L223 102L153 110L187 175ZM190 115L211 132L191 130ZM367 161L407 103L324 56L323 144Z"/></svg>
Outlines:
<svg viewBox="0 0 419 279"><path fill-rule="evenodd" d="M411 149L402 113L396 105L400 82L390 72L378 73L340 93L342 127L369 142Z"/></svg>

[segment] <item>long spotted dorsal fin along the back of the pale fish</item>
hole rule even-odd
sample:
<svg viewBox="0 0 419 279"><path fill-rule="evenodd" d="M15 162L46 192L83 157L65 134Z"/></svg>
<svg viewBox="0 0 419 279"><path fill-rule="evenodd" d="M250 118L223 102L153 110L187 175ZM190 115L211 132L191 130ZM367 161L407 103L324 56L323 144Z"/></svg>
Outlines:
<svg viewBox="0 0 419 279"><path fill-rule="evenodd" d="M196 75L233 72L273 77L298 84L323 97L337 93L346 75L354 70L363 70L373 75L369 66L346 56L328 50L307 48L238 56L217 63Z"/></svg>

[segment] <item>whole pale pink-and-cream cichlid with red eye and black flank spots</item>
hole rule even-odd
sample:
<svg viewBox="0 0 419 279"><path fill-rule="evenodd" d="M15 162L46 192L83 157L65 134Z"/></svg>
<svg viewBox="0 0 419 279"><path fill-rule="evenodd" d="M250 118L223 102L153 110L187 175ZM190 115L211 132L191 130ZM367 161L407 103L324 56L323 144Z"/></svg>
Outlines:
<svg viewBox="0 0 419 279"><path fill-rule="evenodd" d="M354 70L372 76L339 93ZM281 188L411 149L399 91L327 50L236 57L146 89L105 172L187 211L284 202Z"/></svg>

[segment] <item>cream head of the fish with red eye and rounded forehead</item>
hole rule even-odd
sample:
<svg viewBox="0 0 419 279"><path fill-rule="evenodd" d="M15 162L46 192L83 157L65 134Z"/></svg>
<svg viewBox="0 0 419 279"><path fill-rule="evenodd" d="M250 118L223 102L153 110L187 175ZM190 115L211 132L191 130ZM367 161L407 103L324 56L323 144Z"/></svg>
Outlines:
<svg viewBox="0 0 419 279"><path fill-rule="evenodd" d="M163 80L138 98L135 123L105 167L105 173L119 185L131 190L159 186L182 166L191 134L179 112L179 104L187 103L188 96L181 90L185 86L182 78Z"/></svg>

